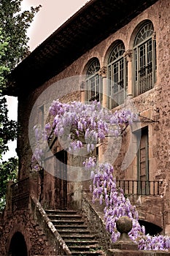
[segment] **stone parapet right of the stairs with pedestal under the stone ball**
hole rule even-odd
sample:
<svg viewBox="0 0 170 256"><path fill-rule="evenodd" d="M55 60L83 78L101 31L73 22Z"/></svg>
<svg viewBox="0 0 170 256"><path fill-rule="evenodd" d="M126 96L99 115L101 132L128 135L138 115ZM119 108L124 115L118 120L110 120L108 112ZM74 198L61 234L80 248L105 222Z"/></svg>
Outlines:
<svg viewBox="0 0 170 256"><path fill-rule="evenodd" d="M128 237L128 232L131 230L131 228L128 231L126 230L124 233L123 231L121 232L119 227L117 227L117 230L120 232L120 238L115 243L112 243L110 234L105 228L104 206L99 205L99 202L92 203L92 196L87 192L83 193L82 213L85 215L85 218L87 218L87 224L89 225L90 230L93 230L93 233L96 234L96 239L98 239L104 250L107 251L108 256L170 255L170 251L163 252L139 250L137 248L137 244L134 244L134 242ZM144 219L147 218L145 217ZM150 219L150 221L152 222L152 219ZM125 224L123 224L122 228L126 229L127 227Z"/></svg>

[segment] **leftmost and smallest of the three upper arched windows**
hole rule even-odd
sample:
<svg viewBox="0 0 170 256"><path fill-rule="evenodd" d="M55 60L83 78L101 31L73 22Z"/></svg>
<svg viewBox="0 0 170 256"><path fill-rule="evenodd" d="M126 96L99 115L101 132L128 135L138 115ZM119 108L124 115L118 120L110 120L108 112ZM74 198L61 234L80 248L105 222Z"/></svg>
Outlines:
<svg viewBox="0 0 170 256"><path fill-rule="evenodd" d="M98 71L100 69L100 63L98 59L94 58L88 67L87 73L86 73L86 100L88 102L91 102L93 100L97 100L101 102L102 97L102 84L101 84L101 78L98 75Z"/></svg>

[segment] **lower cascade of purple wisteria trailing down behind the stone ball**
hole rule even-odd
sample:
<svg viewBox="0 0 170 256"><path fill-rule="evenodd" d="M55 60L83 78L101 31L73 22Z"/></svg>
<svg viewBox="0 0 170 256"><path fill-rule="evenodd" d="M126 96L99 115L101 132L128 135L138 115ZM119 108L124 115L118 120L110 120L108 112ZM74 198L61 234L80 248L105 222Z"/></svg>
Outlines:
<svg viewBox="0 0 170 256"><path fill-rule="evenodd" d="M170 249L169 236L145 235L144 226L139 225L139 217L136 207L131 205L128 197L125 197L123 189L117 188L114 178L113 167L108 163L96 164L95 157L90 157L83 162L85 168L91 170L93 184L90 191L93 192L93 203L98 200L104 203L104 220L106 228L111 233L112 242L117 241L120 233L117 231L117 219L127 216L132 220L132 230L129 232L130 238L138 244L139 249L163 250Z"/></svg>

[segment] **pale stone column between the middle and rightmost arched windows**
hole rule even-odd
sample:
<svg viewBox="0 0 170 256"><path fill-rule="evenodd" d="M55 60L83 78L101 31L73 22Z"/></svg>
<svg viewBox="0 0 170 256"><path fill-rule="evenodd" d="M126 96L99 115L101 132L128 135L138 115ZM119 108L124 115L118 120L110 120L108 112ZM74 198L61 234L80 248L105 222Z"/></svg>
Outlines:
<svg viewBox="0 0 170 256"><path fill-rule="evenodd" d="M132 85L132 50L126 50L123 55L128 62L128 91L127 96L133 97L133 85Z"/></svg>

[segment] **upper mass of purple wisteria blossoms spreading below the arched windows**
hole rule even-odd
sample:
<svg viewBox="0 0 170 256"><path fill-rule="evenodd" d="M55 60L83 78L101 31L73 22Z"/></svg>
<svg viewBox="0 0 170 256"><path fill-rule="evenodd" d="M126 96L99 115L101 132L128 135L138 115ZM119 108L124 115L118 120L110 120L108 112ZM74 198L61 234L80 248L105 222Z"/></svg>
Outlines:
<svg viewBox="0 0 170 256"><path fill-rule="evenodd" d="M69 152L83 147L82 138L88 152L106 136L118 136L122 130L137 120L138 116L130 110L112 111L102 108L101 103L82 102L61 103L53 101L50 107L53 122L46 124L47 137L53 133L67 143Z"/></svg>

